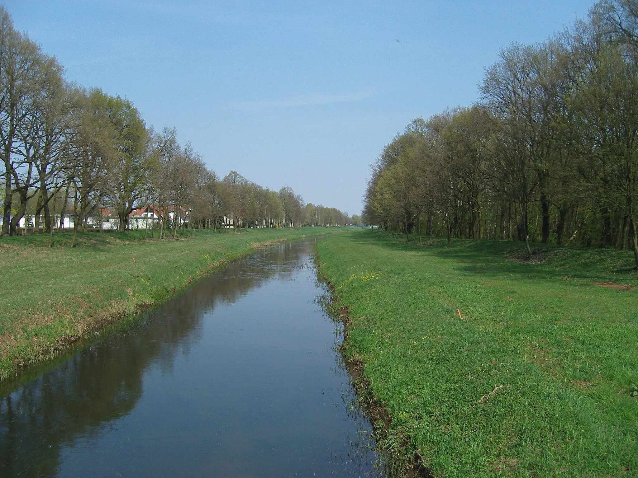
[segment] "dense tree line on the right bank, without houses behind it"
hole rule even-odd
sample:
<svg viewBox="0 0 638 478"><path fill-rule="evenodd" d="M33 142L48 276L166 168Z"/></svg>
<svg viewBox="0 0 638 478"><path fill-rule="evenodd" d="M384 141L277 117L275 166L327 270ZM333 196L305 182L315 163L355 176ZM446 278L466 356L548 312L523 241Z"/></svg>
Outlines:
<svg viewBox="0 0 638 478"><path fill-rule="evenodd" d="M479 90L383 148L366 221L420 242L523 241L530 256L530 242L632 249L638 266L638 1L503 48Z"/></svg>

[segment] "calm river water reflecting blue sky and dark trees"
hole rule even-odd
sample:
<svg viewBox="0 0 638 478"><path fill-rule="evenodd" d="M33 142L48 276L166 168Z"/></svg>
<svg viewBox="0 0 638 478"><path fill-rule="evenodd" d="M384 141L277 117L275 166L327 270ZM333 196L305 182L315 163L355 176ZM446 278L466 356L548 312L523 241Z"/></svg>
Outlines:
<svg viewBox="0 0 638 478"><path fill-rule="evenodd" d="M23 378L0 398L0 476L379 476L314 242L258 250Z"/></svg>

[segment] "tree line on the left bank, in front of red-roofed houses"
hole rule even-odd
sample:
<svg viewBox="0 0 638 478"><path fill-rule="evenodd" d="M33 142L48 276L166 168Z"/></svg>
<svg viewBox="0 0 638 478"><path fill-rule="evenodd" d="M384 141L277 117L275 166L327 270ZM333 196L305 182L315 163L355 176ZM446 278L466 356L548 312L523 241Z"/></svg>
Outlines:
<svg viewBox="0 0 638 478"><path fill-rule="evenodd" d="M4 172L1 235L15 235L25 215L33 228L91 228L112 216L130 228L131 213L158 216L159 238L178 228L343 226L347 214L304 204L290 187L271 191L231 171L218 178L175 128L155 131L128 99L64 79L64 68L0 7L0 157ZM148 221L147 221L148 223Z"/></svg>

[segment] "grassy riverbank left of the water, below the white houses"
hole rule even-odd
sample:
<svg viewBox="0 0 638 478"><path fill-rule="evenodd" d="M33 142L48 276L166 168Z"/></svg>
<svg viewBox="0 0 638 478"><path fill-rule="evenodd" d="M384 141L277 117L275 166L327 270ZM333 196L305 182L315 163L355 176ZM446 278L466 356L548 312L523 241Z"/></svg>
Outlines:
<svg viewBox="0 0 638 478"><path fill-rule="evenodd" d="M64 351L103 326L158 305L225 261L324 228L186 231L175 240L144 232L0 239L0 379Z"/></svg>

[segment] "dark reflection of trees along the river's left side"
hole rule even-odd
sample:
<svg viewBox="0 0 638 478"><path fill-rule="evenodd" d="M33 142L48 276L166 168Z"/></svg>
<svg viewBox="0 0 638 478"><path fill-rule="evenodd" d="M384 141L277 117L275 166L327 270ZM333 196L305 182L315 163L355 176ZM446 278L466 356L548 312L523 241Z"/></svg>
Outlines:
<svg viewBox="0 0 638 478"><path fill-rule="evenodd" d="M64 445L128 414L152 365L170 370L188 354L205 312L232 304L271 277L290 277L309 243L284 243L230 264L147 315L144 325L75 354L0 399L0 476L55 476Z"/></svg>

